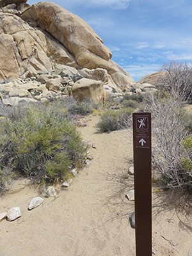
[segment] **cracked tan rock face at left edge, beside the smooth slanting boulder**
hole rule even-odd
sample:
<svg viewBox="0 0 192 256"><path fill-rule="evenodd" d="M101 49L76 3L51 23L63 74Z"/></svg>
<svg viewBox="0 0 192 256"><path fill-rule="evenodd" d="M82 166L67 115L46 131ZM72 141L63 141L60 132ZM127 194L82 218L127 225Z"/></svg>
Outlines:
<svg viewBox="0 0 192 256"><path fill-rule="evenodd" d="M0 83L12 81L26 70L51 72L47 36L42 31L31 28L17 15L8 13L0 13L0 24L3 28L0 37Z"/></svg>

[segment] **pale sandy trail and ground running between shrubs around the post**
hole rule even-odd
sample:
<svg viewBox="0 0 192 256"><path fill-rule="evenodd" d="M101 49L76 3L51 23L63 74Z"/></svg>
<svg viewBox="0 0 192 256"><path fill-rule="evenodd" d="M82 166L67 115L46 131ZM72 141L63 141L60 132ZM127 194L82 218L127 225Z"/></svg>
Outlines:
<svg viewBox="0 0 192 256"><path fill-rule="evenodd" d="M135 255L134 229L129 224L134 203L125 198L133 188L132 177L127 177L131 133L97 134L97 121L93 116L88 127L79 128L84 140L96 146L90 149L93 160L59 198L45 198L44 204L28 211L29 200L38 192L18 183L14 193L1 198L0 212L19 206L22 216L1 221L0 256ZM152 193L156 255L192 256L191 207L175 204L178 197L169 191L156 193L153 188Z"/></svg>

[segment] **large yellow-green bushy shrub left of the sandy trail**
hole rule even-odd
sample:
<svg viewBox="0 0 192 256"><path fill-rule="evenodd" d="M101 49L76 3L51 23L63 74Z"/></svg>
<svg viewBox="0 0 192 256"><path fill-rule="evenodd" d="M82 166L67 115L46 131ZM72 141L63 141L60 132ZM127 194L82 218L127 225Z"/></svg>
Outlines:
<svg viewBox="0 0 192 256"><path fill-rule="evenodd" d="M4 184L6 170L39 181L54 181L63 179L72 166L83 165L87 146L60 104L4 108L0 127L0 186Z"/></svg>

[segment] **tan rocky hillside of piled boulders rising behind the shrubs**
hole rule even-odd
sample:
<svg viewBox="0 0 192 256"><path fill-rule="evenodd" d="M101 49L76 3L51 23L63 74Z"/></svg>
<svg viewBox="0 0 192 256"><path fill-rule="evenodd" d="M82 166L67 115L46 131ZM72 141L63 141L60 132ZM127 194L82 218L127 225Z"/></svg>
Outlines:
<svg viewBox="0 0 192 256"><path fill-rule="evenodd" d="M73 93L99 101L122 93L132 77L81 18L51 2L0 0L0 92L6 104Z"/></svg>

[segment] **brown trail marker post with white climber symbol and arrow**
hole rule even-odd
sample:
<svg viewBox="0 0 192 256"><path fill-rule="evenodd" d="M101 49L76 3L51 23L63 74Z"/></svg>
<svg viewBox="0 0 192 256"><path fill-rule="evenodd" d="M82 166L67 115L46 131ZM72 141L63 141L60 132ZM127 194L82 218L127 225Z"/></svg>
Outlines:
<svg viewBox="0 0 192 256"><path fill-rule="evenodd" d="M136 256L152 256L151 113L133 113Z"/></svg>

